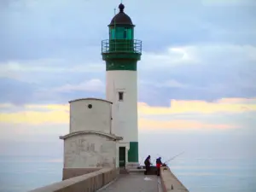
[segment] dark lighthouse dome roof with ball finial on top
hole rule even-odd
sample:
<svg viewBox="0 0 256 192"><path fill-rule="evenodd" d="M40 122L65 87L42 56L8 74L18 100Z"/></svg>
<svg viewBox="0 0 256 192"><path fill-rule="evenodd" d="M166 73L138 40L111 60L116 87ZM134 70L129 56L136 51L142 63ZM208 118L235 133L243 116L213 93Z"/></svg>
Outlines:
<svg viewBox="0 0 256 192"><path fill-rule="evenodd" d="M123 3L119 4L119 13L113 17L109 26L115 25L130 25L133 26L131 18L124 12L125 5Z"/></svg>

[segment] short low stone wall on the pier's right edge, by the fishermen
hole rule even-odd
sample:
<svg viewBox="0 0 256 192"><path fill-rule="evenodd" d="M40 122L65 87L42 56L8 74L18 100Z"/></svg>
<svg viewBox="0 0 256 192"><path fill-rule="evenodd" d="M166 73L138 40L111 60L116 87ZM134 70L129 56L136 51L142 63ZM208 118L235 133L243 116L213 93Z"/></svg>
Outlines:
<svg viewBox="0 0 256 192"><path fill-rule="evenodd" d="M188 192L189 190L181 183L177 177L171 172L168 166L161 167L160 178L163 192Z"/></svg>

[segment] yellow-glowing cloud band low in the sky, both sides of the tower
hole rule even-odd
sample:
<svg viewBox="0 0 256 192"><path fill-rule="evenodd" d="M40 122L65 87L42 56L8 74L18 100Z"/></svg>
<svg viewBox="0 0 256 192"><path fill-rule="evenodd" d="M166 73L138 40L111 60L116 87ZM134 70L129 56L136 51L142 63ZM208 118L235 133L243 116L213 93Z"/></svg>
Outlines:
<svg viewBox="0 0 256 192"><path fill-rule="evenodd" d="M232 114L256 112L255 102L256 98L223 99L217 102L172 101L170 108L151 107L146 103L138 103L139 127L141 130L236 128L241 125L239 122L238 124L230 122ZM15 108L15 106L8 103L0 105L2 111L0 122L5 124L67 125L69 122L68 104L24 105L23 108L16 108L18 109L16 112L12 110L9 113L5 112L7 108ZM206 114L208 116L204 116ZM218 119L218 123L214 122L216 118L209 119L209 115L218 117L227 114L231 116L225 120Z"/></svg>

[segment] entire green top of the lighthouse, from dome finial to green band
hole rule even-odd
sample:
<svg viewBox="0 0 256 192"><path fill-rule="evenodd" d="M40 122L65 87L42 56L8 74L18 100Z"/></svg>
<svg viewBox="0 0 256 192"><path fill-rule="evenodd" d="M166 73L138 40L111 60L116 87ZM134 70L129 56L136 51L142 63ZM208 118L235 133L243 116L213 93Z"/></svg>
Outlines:
<svg viewBox="0 0 256 192"><path fill-rule="evenodd" d="M108 25L109 37L102 40L102 59L108 70L137 70L137 61L142 55L142 41L134 39L131 18L124 12L125 5L119 4L119 13Z"/></svg>

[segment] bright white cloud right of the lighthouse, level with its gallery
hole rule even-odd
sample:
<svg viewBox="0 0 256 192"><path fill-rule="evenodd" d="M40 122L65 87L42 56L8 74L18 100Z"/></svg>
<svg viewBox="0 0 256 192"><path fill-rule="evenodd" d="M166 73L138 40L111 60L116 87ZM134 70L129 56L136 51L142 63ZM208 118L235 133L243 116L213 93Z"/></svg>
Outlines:
<svg viewBox="0 0 256 192"><path fill-rule="evenodd" d="M192 69L196 67L209 67L218 70L218 67L241 67L242 62L250 65L256 61L256 47L252 45L237 44L194 44L187 46L170 46L161 53L144 52L142 63L139 66L147 70L161 70L165 68L184 68ZM249 62L249 63L248 63ZM157 63L157 67L156 67ZM217 67L218 66L218 67ZM217 68L216 68L217 67ZM247 66L246 66L247 67ZM253 67L253 66L252 66ZM247 69L247 68L246 68ZM176 73L175 71L173 73ZM214 73L214 71L213 71Z"/></svg>

